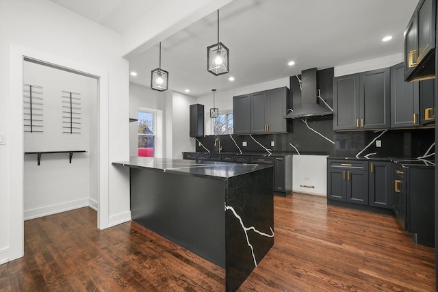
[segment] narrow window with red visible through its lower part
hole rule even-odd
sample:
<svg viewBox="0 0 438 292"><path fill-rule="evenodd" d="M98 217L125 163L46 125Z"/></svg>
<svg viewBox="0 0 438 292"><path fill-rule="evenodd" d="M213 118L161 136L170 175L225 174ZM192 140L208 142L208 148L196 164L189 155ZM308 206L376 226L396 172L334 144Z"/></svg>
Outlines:
<svg viewBox="0 0 438 292"><path fill-rule="evenodd" d="M138 156L154 157L155 115L148 111L138 111Z"/></svg>

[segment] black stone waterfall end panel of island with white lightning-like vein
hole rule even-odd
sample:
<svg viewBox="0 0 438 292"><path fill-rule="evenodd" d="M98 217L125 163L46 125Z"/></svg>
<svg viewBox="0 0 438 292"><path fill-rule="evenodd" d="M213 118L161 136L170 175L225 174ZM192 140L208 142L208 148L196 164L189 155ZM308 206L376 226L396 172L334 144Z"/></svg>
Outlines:
<svg viewBox="0 0 438 292"><path fill-rule="evenodd" d="M227 180L227 291L236 291L274 245L272 171L266 168ZM250 227L265 235L247 230Z"/></svg>

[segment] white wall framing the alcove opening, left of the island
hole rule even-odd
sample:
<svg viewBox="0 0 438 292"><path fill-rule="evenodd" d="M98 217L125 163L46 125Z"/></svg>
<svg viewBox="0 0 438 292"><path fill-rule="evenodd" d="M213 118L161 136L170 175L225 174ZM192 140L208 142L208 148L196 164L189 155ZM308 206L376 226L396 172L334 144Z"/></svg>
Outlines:
<svg viewBox="0 0 438 292"><path fill-rule="evenodd" d="M6 137L0 146L0 263L4 263L23 254L23 145L14 144L23 142L22 103L14 99L21 98L21 90L10 86L22 82L17 74L21 63L11 57L16 48L106 72L99 81L107 94L99 96L107 98L99 101L100 106L108 106L106 112L99 111L99 147L107 156L99 158L101 172L95 175L107 181L99 186L108 201L101 210L107 217L101 228L130 219L129 171L110 164L129 158L129 72L127 60L120 57L120 35L51 1L0 0L0 36L0 133Z"/></svg>

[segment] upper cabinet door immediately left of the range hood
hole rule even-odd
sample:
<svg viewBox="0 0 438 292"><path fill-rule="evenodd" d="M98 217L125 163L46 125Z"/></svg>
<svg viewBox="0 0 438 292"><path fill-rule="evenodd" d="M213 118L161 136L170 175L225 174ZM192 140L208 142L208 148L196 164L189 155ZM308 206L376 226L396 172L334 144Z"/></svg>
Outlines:
<svg viewBox="0 0 438 292"><path fill-rule="evenodd" d="M268 132L286 133L287 132L287 88L276 88L266 91L269 102Z"/></svg>

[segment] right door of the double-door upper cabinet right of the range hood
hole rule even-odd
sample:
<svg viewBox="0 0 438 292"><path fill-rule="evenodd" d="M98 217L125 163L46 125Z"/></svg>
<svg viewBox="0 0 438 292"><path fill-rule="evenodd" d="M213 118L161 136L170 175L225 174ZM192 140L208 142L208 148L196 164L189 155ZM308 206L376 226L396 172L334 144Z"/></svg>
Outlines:
<svg viewBox="0 0 438 292"><path fill-rule="evenodd" d="M360 74L361 129L391 127L391 82L389 68Z"/></svg>

